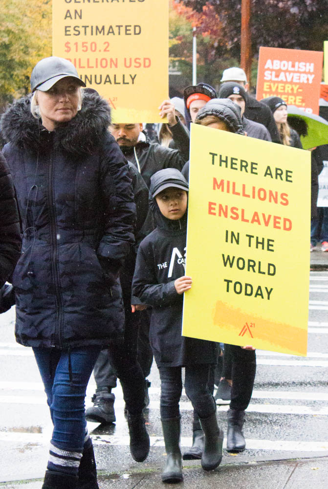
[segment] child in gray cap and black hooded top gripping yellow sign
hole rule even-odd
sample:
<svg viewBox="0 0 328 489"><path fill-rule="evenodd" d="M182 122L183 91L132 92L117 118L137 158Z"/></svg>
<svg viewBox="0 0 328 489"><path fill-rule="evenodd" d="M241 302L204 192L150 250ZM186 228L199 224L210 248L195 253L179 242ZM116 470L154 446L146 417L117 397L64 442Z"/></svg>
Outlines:
<svg viewBox="0 0 328 489"><path fill-rule="evenodd" d="M186 394L204 431L204 470L218 467L223 443L216 403L207 385L210 367L217 361L216 344L181 336L183 293L192 284L185 276L187 192L188 183L176 169L160 170L151 178L150 207L157 227L139 246L132 282L133 295L153 307L150 342L161 379L160 415L167 453L162 481L169 483L182 480L182 367Z"/></svg>

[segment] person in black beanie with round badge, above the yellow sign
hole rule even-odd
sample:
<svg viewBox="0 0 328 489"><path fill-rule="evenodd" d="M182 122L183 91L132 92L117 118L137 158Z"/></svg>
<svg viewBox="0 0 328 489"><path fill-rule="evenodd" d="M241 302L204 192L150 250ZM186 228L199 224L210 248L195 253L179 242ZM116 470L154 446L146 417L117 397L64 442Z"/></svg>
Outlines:
<svg viewBox="0 0 328 489"><path fill-rule="evenodd" d="M244 112L247 107L247 94L246 90L239 83L226 82L221 85L219 89L219 98L230 98L230 100L241 108L242 126L247 136L263 139L264 141L271 141L270 133L263 124L251 121L245 117Z"/></svg>

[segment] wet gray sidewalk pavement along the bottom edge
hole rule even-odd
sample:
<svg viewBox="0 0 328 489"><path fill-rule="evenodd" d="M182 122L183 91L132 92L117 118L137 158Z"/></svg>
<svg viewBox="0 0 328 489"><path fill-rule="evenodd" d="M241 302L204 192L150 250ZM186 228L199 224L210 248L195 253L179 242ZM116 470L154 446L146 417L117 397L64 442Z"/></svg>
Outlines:
<svg viewBox="0 0 328 489"><path fill-rule="evenodd" d="M328 456L310 459L276 460L246 464L225 464L205 472L200 464L183 467L181 484L163 484L161 471L109 474L100 471L100 489L327 489ZM42 480L0 483L1 489L40 489Z"/></svg>

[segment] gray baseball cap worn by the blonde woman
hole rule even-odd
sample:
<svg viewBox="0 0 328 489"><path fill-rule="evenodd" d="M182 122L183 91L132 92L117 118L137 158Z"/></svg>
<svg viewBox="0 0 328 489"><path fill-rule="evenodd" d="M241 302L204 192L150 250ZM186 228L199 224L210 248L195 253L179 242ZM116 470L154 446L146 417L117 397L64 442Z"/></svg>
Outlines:
<svg viewBox="0 0 328 489"><path fill-rule="evenodd" d="M86 84L80 79L76 68L70 61L57 56L44 58L33 68L31 74L31 90L32 92L36 89L47 91L55 83L67 76L75 78L82 87L86 87Z"/></svg>

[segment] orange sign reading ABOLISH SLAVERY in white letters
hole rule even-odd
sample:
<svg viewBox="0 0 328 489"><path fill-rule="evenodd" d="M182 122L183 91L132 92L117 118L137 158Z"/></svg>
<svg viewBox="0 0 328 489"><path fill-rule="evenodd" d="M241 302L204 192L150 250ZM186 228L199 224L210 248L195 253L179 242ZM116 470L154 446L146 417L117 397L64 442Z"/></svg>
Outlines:
<svg viewBox="0 0 328 489"><path fill-rule="evenodd" d="M322 64L320 51L260 47L256 98L274 95L318 114Z"/></svg>

